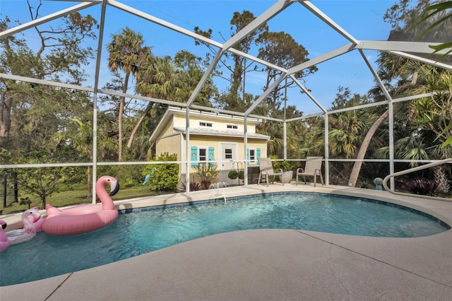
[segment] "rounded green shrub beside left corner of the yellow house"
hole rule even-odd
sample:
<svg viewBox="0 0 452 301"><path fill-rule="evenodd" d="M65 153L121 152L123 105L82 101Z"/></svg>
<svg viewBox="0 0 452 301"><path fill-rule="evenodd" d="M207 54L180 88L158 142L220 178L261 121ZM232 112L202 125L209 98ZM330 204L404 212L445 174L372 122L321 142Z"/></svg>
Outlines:
<svg viewBox="0 0 452 301"><path fill-rule="evenodd" d="M177 161L177 154L162 153L155 158L155 161ZM146 165L141 174L144 177L150 174L150 178L146 183L146 185L150 186L150 189L177 191L179 182L179 165L177 163Z"/></svg>

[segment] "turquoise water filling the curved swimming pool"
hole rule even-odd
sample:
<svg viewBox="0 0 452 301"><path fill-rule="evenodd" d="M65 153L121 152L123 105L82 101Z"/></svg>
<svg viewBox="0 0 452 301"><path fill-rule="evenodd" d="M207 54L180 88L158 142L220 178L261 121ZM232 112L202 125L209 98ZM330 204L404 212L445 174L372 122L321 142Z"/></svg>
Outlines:
<svg viewBox="0 0 452 301"><path fill-rule="evenodd" d="M112 225L96 232L72 237L39 232L32 240L9 247L0 253L0 285L80 271L237 230L283 228L420 237L450 228L432 216L405 209L366 199L299 192L146 208L120 214Z"/></svg>

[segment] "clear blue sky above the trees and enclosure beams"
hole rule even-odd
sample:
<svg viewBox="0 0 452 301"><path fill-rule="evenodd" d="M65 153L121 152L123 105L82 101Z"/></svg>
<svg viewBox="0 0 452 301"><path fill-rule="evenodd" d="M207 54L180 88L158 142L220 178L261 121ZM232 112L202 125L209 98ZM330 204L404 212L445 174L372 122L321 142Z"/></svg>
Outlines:
<svg viewBox="0 0 452 301"><path fill-rule="evenodd" d="M33 5L38 1L31 0ZM230 19L235 11L251 11L254 16L259 16L272 6L275 1L268 0L125 0L120 1L127 6L137 8L141 11L174 23L187 30L194 30L195 26L203 30L212 28L213 39L223 42L230 37ZM338 23L348 33L358 40L387 40L390 26L383 22L383 14L386 9L395 3L386 0L314 0L312 4L318 7ZM78 4L78 2L69 1L43 1L41 15L58 11ZM30 20L28 7L24 0L0 0L0 11L2 16L8 16L11 20L20 20L25 23ZM88 8L86 13L90 13L95 18L99 18L100 6ZM52 21L56 24L58 20ZM208 50L203 46L195 46L190 37L186 37L171 30L162 28L146 20L135 16L130 16L117 8L107 8L107 18L105 21L106 35L104 45L110 40L110 36L125 26L143 34L145 44L153 47L153 53L158 56L170 55L182 49L189 50L194 54L203 57ZM280 13L268 23L271 31L285 31L303 45L309 52L309 58L312 59L323 53L329 52L335 48L348 43L343 37L328 28L321 20L312 15L300 4L292 4L285 11ZM30 45L37 43L37 37L33 30L25 32L25 38L30 41ZM93 45L95 45L93 43ZM251 54L256 55L256 49L252 49ZM376 59L376 52L365 52L371 63ZM102 51L102 61L106 66L107 52ZM92 73L93 66L88 67ZM352 52L344 56L332 59L318 65L319 71L306 80L307 88L312 90L312 95L328 108L335 98L338 86L350 87L354 93L367 93L367 90L374 85L371 73L360 59L357 52ZM102 69L101 82L109 80L109 71ZM93 85L93 83L87 83ZM220 87L226 85L225 81L218 79ZM246 78L246 92L258 94L261 93L263 86L263 75L254 73ZM299 93L299 89L290 89L288 92L288 103L296 105L304 114L319 112L319 109L307 99L305 95Z"/></svg>

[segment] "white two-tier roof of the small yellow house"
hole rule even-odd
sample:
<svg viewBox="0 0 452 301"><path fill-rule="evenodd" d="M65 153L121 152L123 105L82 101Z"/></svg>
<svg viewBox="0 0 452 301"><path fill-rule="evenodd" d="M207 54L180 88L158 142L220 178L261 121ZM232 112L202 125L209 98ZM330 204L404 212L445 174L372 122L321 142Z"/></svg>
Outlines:
<svg viewBox="0 0 452 301"><path fill-rule="evenodd" d="M150 135L149 141L156 141L157 138L162 136L162 131L165 129L165 125L168 124L174 117L174 115L183 115L185 116L186 110L184 108L178 108L178 107L168 107L168 110L163 115L162 119L160 119L160 122L157 124L157 127L153 131L153 134ZM217 120L227 120L230 122L237 122L237 123L244 123L244 119L241 116L235 116L230 114L220 114L215 112L205 112L205 111L197 111L197 110L190 110L190 117L195 117L198 119L217 119ZM249 117L246 119L248 123L251 124L258 124L261 121L256 118ZM174 127L174 131L177 131L182 134L186 134L186 129L182 127ZM190 134L196 134L196 135L204 135L204 136L223 136L223 137L244 137L244 133L242 131L218 131L215 129L192 129L190 128ZM249 138L256 138L256 139L270 139L270 136L257 134L257 133L247 133L247 136Z"/></svg>

